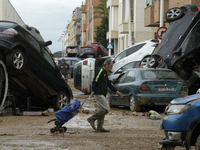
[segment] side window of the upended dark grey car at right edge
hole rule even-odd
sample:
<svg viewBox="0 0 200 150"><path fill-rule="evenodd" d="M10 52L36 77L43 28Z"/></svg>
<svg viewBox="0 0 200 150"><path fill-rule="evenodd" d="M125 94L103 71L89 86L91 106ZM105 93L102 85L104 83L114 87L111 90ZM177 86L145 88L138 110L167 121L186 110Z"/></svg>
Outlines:
<svg viewBox="0 0 200 150"><path fill-rule="evenodd" d="M183 42L182 48L182 55L190 52L194 49L197 44L200 42L200 21L196 24L196 26L190 31L189 35Z"/></svg>

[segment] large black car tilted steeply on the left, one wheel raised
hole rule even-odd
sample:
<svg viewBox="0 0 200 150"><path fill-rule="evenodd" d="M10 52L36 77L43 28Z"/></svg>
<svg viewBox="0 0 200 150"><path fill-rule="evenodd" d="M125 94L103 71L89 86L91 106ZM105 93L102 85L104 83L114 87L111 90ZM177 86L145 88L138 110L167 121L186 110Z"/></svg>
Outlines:
<svg viewBox="0 0 200 150"><path fill-rule="evenodd" d="M27 31L31 29L0 21L1 93L8 85L19 107L25 107L28 98L31 106L61 109L73 97L72 91L45 48L49 42L39 41Z"/></svg>

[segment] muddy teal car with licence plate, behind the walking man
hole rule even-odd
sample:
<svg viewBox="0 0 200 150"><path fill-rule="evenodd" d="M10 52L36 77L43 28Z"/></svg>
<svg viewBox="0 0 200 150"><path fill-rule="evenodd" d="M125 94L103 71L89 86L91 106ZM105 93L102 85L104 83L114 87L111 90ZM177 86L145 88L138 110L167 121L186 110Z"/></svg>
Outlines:
<svg viewBox="0 0 200 150"><path fill-rule="evenodd" d="M110 107L126 106L131 111L140 111L141 107L149 105L167 106L172 99L188 93L185 82L175 72L164 68L127 69L113 85L124 96L119 98L108 90Z"/></svg>

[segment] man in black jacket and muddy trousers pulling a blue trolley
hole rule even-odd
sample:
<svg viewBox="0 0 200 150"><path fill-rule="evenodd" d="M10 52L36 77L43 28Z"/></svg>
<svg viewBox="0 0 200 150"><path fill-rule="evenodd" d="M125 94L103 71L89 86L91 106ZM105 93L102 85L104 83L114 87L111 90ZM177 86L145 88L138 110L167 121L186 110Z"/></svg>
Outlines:
<svg viewBox="0 0 200 150"><path fill-rule="evenodd" d="M112 67L113 67L112 59L106 59L103 64L103 68L97 68L94 80L92 82L92 93L90 97L94 96L99 110L94 115L89 117L87 121L90 123L92 128L97 132L110 132L109 130L103 128L105 115L108 114L110 110L110 106L106 99L107 87L112 91L116 92L120 98L123 97L123 94L117 91L115 87L108 80L107 72L111 71ZM96 120L97 120L97 128L95 127Z"/></svg>

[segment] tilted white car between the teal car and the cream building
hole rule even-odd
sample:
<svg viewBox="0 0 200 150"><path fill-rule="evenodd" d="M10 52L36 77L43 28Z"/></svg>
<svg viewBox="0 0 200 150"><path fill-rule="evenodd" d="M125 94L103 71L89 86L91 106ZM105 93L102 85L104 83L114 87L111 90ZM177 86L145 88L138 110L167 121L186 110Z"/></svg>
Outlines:
<svg viewBox="0 0 200 150"><path fill-rule="evenodd" d="M136 43L126 48L113 59L114 64L111 74L116 74L120 68L128 63L141 61L143 58L151 56L154 50L156 50L158 44L159 41L154 39Z"/></svg>

